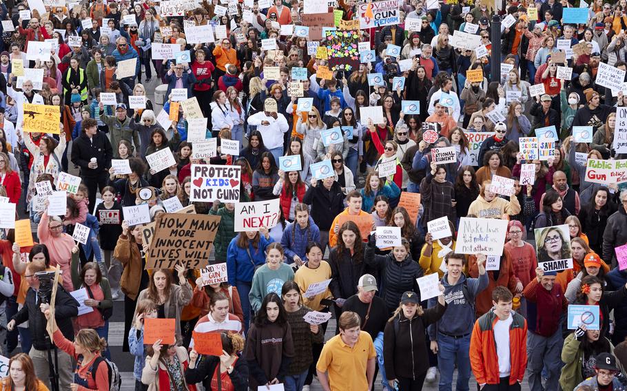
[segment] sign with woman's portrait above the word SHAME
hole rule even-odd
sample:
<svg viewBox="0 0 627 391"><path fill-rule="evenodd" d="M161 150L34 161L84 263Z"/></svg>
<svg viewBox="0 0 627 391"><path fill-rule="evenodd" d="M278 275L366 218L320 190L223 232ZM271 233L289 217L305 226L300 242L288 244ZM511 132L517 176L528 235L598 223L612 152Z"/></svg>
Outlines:
<svg viewBox="0 0 627 391"><path fill-rule="evenodd" d="M544 271L562 271L573 267L568 225L537 228L533 233L538 266L544 268Z"/></svg>

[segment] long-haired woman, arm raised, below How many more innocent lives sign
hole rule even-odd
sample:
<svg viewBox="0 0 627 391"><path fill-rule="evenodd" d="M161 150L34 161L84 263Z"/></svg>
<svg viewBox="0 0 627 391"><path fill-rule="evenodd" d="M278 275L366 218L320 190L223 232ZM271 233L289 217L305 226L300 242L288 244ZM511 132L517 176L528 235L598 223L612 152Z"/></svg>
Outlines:
<svg viewBox="0 0 627 391"><path fill-rule="evenodd" d="M181 335L181 311L192 300L192 286L185 278L185 266L174 266L178 275L178 284L172 281L172 272L168 269L156 269L150 276L148 287L142 290L137 300L150 299L156 303L159 316L176 319L176 342L183 342ZM133 320L134 323L134 320ZM154 367L153 367L154 368Z"/></svg>

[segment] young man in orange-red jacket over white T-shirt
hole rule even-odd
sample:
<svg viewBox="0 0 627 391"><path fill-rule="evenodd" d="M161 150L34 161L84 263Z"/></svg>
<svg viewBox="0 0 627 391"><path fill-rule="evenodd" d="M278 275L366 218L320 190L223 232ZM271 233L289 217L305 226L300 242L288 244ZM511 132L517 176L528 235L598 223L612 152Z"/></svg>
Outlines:
<svg viewBox="0 0 627 391"><path fill-rule="evenodd" d="M512 310L512 293L492 291L494 307L475 321L470 359L482 391L520 391L527 367L527 321Z"/></svg>

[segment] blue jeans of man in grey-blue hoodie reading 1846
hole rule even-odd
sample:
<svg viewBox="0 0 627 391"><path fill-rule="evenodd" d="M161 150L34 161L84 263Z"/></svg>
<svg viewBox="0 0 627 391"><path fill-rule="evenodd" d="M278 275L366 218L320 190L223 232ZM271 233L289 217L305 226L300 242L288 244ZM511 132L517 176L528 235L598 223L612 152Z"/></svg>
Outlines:
<svg viewBox="0 0 627 391"><path fill-rule="evenodd" d="M451 391L455 363L458 366L457 391L468 391L470 381L470 335L455 339L438 332L438 368L440 368L440 391Z"/></svg>

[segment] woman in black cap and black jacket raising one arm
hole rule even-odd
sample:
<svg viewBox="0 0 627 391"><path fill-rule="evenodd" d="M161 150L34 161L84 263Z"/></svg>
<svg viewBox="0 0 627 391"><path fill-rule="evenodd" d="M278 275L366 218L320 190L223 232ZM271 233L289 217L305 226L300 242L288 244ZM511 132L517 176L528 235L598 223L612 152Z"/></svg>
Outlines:
<svg viewBox="0 0 627 391"><path fill-rule="evenodd" d="M444 292L442 284L439 288L440 292ZM398 308L387 321L383 334L385 374L391 388L422 390L426 370L429 369L425 330L440 320L445 310L446 302L442 294L438 295L435 307L424 310L417 293L402 293Z"/></svg>

